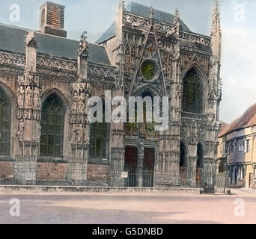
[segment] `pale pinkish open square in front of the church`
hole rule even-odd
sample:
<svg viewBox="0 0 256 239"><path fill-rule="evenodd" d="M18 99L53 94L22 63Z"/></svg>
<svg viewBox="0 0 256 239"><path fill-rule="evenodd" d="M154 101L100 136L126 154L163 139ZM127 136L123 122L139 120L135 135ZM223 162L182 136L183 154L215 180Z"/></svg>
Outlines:
<svg viewBox="0 0 256 239"><path fill-rule="evenodd" d="M10 199L20 216L10 216ZM236 199L245 215L234 214ZM238 212L243 212L237 208ZM0 224L6 223L256 223L256 191L233 195L195 193L13 193L0 191Z"/></svg>

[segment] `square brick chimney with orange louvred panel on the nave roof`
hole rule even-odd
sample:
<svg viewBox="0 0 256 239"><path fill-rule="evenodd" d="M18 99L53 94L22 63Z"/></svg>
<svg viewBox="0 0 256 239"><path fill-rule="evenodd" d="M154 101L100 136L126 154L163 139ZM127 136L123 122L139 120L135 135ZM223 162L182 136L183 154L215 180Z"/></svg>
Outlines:
<svg viewBox="0 0 256 239"><path fill-rule="evenodd" d="M64 31L64 6L46 1L40 7L40 31L58 37L67 37Z"/></svg>

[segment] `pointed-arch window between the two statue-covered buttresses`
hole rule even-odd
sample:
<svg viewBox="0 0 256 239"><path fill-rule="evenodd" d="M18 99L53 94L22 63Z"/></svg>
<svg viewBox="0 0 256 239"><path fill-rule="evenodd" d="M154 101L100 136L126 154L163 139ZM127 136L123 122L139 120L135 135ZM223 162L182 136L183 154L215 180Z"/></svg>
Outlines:
<svg viewBox="0 0 256 239"><path fill-rule="evenodd" d="M47 97L42 107L40 155L63 155L64 106L55 94Z"/></svg>

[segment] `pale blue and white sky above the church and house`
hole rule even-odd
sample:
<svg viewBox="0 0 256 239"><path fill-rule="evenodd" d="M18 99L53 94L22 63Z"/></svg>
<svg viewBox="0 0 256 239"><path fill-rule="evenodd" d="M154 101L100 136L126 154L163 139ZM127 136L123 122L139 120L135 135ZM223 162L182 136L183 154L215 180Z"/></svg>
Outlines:
<svg viewBox="0 0 256 239"><path fill-rule="evenodd" d="M39 28L39 7L45 0L0 0L0 22L22 28ZM210 34L214 0L134 0L159 10L174 13L188 27ZM115 20L119 0L55 0L65 8L65 30L79 40L88 31L94 42ZM127 1L127 4L129 1ZM20 21L10 21L10 5L19 4ZM222 105L221 120L231 122L256 103L256 1L222 0ZM15 36L13 36L15 37Z"/></svg>

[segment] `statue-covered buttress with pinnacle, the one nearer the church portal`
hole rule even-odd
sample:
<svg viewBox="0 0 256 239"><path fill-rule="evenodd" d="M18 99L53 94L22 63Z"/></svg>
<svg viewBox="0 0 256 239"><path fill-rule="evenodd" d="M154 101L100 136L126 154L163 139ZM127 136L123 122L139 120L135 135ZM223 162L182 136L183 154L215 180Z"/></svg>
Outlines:
<svg viewBox="0 0 256 239"><path fill-rule="evenodd" d="M68 181L70 184L85 184L89 155L90 122L88 121L88 99L91 86L86 82L88 69L88 43L84 31L78 51L78 75L71 83L70 139L71 157L68 160Z"/></svg>

